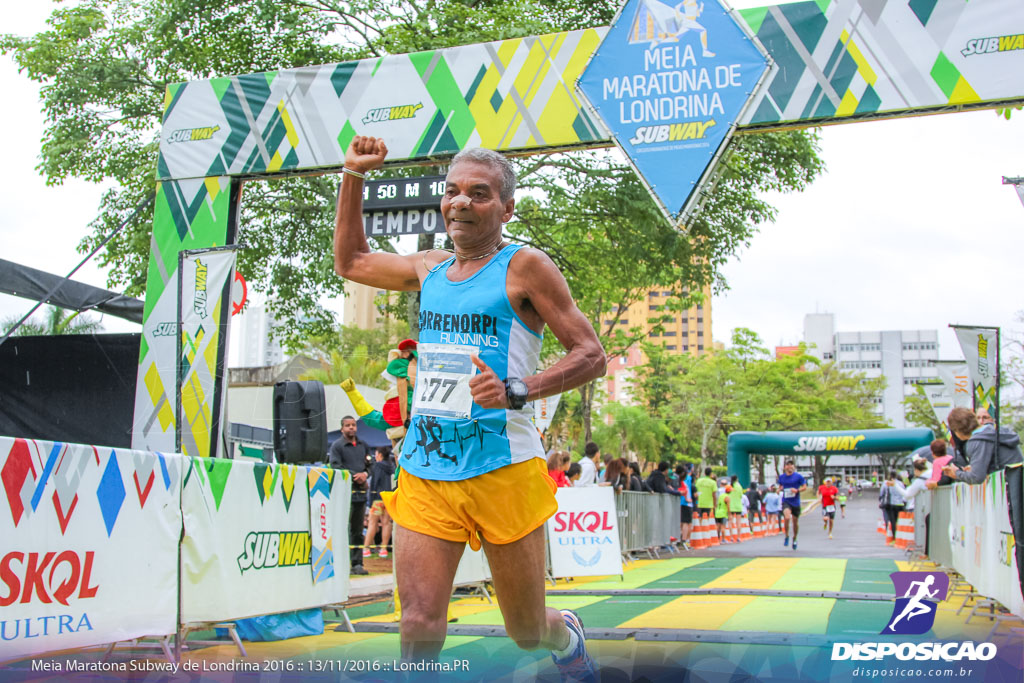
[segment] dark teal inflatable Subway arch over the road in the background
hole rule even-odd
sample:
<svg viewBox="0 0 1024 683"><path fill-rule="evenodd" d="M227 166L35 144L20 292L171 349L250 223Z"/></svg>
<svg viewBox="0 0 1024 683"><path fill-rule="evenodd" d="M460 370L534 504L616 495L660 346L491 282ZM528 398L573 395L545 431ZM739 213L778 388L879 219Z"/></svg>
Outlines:
<svg viewBox="0 0 1024 683"><path fill-rule="evenodd" d="M751 454L763 456L866 456L874 453L913 451L935 438L931 429L855 429L821 432L732 432L726 445L729 475L751 485Z"/></svg>

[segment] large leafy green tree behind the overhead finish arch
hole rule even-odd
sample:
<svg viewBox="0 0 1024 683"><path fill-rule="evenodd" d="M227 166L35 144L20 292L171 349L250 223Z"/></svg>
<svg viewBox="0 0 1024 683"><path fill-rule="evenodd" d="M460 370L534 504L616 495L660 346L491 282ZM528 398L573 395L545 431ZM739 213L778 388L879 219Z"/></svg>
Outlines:
<svg viewBox="0 0 1024 683"><path fill-rule="evenodd" d="M109 182L92 233L94 247L153 186L164 93L170 83L311 63L435 49L606 25L617 0L79 0L54 10L31 37L0 37L26 75L42 84L47 128L39 171ZM816 133L738 136L687 232L669 227L616 155L573 153L521 162L523 198L509 237L548 251L610 354L641 335L624 329L622 308L650 287L671 289L682 310L708 285L724 288L720 267L774 218L766 190L799 190L822 168ZM239 236L250 245L238 268L266 295L286 348L334 327L321 307L343 283L332 267L336 179L281 178L246 186ZM109 286L143 292L152 219L134 221L99 257ZM377 241L379 249L394 247ZM415 329L416 297L407 297ZM611 325L603 321L610 316ZM550 353L558 350L549 342ZM550 360L549 360L550 361ZM580 389L584 437L596 383Z"/></svg>

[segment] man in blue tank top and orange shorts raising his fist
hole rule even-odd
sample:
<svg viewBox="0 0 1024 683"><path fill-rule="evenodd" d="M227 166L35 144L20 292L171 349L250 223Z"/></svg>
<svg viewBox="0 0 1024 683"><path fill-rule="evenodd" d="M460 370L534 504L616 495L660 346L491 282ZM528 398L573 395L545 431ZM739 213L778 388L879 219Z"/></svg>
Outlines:
<svg viewBox="0 0 1024 683"><path fill-rule="evenodd" d="M487 555L516 645L551 650L563 679L594 681L580 618L544 604L544 522L557 504L527 401L603 376L604 350L551 259L503 240L516 177L498 153L466 150L452 160L440 212L454 255L371 252L362 179L386 156L383 140L362 136L345 154L334 264L346 280L421 292L418 385L398 456L403 471L397 490L383 495L395 523L401 655L437 658L468 543ZM566 353L538 372L545 326Z"/></svg>

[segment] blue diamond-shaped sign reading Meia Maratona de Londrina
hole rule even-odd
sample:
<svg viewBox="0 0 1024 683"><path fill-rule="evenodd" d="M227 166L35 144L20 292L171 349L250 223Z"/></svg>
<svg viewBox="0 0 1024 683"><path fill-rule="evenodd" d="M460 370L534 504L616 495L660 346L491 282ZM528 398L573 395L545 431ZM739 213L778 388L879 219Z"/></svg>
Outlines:
<svg viewBox="0 0 1024 683"><path fill-rule="evenodd" d="M768 67L761 46L716 0L628 0L577 87L676 222Z"/></svg>

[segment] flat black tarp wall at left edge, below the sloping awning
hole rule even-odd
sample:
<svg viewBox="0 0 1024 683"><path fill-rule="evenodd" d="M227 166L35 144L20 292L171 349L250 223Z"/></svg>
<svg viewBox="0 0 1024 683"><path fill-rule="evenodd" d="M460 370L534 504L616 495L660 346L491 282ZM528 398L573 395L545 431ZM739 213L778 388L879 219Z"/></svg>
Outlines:
<svg viewBox="0 0 1024 683"><path fill-rule="evenodd" d="M130 447L141 338L8 339L0 345L0 435Z"/></svg>

